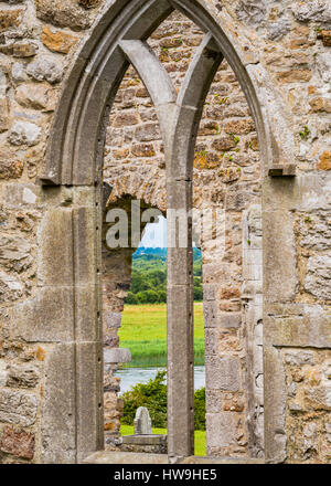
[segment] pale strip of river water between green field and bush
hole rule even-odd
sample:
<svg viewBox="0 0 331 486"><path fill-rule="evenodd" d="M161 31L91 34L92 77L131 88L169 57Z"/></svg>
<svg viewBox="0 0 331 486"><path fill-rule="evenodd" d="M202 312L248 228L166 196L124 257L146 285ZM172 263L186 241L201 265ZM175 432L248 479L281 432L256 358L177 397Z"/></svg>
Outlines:
<svg viewBox="0 0 331 486"><path fill-rule="evenodd" d="M194 390L205 385L204 366L194 367ZM120 377L120 392L128 391L137 383L147 383L150 379L154 379L158 371L166 368L125 368L118 370L115 374Z"/></svg>

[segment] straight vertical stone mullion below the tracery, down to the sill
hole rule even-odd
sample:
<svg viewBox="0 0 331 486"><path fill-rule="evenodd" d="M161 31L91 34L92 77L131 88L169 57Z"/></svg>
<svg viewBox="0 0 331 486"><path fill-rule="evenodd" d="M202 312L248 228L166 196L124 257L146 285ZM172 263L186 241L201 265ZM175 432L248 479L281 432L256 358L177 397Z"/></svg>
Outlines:
<svg viewBox="0 0 331 486"><path fill-rule="evenodd" d="M170 244L174 236L174 246L168 245L168 450L170 457L178 458L194 454L192 224L185 218L192 182L169 178L167 198ZM183 220L177 218L178 210ZM183 232L188 232L188 242L180 247Z"/></svg>

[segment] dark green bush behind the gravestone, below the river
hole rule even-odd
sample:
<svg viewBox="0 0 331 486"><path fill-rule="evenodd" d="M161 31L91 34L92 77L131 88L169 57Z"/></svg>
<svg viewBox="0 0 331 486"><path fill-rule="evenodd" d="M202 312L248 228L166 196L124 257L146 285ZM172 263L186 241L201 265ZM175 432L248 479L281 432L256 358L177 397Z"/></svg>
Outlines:
<svg viewBox="0 0 331 486"><path fill-rule="evenodd" d="M167 429L167 384L163 383L167 372L158 371L153 380L148 383L138 383L125 392L124 416L121 424L132 425L136 411L139 406L147 406L153 427ZM194 429L205 431L205 389L194 393Z"/></svg>

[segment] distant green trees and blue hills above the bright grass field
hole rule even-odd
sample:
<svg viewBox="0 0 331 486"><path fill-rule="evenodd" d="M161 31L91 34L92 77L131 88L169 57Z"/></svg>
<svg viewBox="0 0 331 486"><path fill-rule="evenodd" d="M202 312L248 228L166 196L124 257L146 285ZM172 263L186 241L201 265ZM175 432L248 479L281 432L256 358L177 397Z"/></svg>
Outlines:
<svg viewBox="0 0 331 486"><path fill-rule="evenodd" d="M193 249L194 300L203 299L201 251ZM134 254L131 289L126 304L167 302L167 249L140 247Z"/></svg>

